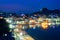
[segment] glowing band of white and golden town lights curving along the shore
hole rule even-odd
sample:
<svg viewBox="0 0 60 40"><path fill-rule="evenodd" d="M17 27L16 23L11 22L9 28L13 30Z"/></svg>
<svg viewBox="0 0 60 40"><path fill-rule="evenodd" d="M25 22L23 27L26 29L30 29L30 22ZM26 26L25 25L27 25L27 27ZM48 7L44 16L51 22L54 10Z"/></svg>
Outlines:
<svg viewBox="0 0 60 40"><path fill-rule="evenodd" d="M9 23L9 28L13 29L13 34L15 40L34 40L32 37L27 36L26 33L23 32L23 30L32 28L36 29L42 28L43 30L48 28L55 28L55 25L60 25L60 18L45 18L45 17L39 17L39 18L23 18L23 17L12 17L12 18L5 18L5 20ZM26 35L26 36L25 36Z"/></svg>

